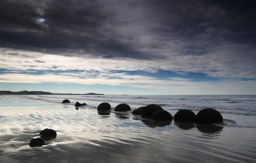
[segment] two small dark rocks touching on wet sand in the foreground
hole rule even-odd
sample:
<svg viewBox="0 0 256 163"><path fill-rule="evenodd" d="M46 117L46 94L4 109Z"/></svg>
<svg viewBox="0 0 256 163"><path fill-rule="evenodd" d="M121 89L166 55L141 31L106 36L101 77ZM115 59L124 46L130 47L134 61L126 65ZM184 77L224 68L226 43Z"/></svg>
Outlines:
<svg viewBox="0 0 256 163"><path fill-rule="evenodd" d="M53 129L44 129L39 133L39 135L40 138L33 138L30 140L30 147L43 146L46 141L49 141L52 138L56 138L57 133Z"/></svg>

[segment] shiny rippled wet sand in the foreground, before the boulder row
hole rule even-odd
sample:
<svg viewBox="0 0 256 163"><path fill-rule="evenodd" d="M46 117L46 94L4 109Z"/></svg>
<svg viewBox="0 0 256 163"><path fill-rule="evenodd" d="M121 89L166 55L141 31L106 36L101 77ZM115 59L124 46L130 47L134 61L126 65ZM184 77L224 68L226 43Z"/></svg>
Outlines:
<svg viewBox="0 0 256 163"><path fill-rule="evenodd" d="M1 163L254 163L256 129L155 122L131 112L1 99ZM29 140L51 128L41 147Z"/></svg>

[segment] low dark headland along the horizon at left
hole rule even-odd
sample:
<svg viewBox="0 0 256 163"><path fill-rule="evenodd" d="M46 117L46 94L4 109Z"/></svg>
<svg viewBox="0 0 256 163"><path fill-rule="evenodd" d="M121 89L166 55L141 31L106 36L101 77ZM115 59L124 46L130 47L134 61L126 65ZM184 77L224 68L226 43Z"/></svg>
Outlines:
<svg viewBox="0 0 256 163"><path fill-rule="evenodd" d="M73 93L50 93L43 91L27 91L23 90L20 92L12 92L12 91L0 91L0 95L104 95L98 93L86 93L86 94L73 94Z"/></svg>

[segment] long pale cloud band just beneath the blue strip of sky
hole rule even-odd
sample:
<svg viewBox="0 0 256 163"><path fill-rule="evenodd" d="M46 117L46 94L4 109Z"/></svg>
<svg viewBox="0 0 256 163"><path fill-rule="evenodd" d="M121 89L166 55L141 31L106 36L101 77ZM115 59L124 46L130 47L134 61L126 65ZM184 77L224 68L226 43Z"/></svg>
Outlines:
<svg viewBox="0 0 256 163"><path fill-rule="evenodd" d="M253 94L255 81L226 80L219 82L192 82L187 80L162 80L148 76L127 76L126 74L112 74L109 77L96 76L93 78L80 78L67 75L30 75L30 74L0 74L0 82L10 83L73 83L73 84L101 84L111 86L127 86L138 89L164 90L169 94ZM118 77L116 79L115 77ZM131 80L134 78L136 80ZM252 89L253 88L253 89Z"/></svg>

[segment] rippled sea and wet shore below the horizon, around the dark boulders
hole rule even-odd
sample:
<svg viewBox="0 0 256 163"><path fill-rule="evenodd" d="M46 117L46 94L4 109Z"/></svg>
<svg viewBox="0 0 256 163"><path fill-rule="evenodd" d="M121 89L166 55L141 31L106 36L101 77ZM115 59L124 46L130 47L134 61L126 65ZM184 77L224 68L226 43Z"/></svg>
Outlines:
<svg viewBox="0 0 256 163"><path fill-rule="evenodd" d="M62 104L64 99L70 103ZM87 105L75 107L76 101ZM98 112L102 102L111 111ZM121 103L131 111L115 112ZM131 112L158 104L175 115L218 110L222 123L156 122ZM29 146L43 129L57 137ZM0 96L0 163L255 163L256 95Z"/></svg>

